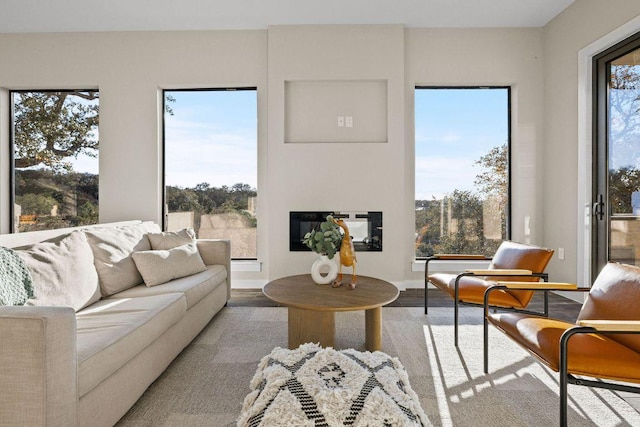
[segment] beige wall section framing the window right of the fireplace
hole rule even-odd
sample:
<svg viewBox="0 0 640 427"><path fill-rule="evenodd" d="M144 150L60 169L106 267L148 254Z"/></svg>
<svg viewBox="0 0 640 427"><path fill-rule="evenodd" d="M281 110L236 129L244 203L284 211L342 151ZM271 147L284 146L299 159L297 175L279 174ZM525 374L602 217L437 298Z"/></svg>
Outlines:
<svg viewBox="0 0 640 427"><path fill-rule="evenodd" d="M544 244L539 158L542 156L542 31L540 29L409 29L406 32L406 139L414 152L416 85L511 86L512 239ZM407 156L413 171L413 157ZM413 233L414 184L406 175L405 235ZM525 225L527 227L525 227ZM405 257L413 252L407 239ZM409 276L409 273L406 272ZM413 273L419 281L421 273Z"/></svg>

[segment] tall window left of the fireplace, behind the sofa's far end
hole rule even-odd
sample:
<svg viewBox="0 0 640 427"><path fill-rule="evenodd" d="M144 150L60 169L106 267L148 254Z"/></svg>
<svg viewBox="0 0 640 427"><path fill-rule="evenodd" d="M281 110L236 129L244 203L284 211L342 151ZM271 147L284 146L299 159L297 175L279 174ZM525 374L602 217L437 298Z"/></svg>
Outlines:
<svg viewBox="0 0 640 427"><path fill-rule="evenodd" d="M255 88L164 92L165 228L231 240L257 259Z"/></svg>

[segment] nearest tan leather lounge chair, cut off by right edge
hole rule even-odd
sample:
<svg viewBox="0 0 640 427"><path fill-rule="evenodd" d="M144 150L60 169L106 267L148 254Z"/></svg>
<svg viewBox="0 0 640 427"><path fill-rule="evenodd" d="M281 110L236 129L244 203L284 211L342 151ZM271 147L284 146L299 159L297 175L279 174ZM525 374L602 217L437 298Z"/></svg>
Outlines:
<svg viewBox="0 0 640 427"><path fill-rule="evenodd" d="M492 324L559 373L560 426L567 425L568 384L640 393L640 387L624 384L640 383L640 268L609 263L591 288L547 285L549 289L589 292L575 323L524 313L490 313L494 291L524 290L531 283L497 283L487 291L485 373L488 325Z"/></svg>

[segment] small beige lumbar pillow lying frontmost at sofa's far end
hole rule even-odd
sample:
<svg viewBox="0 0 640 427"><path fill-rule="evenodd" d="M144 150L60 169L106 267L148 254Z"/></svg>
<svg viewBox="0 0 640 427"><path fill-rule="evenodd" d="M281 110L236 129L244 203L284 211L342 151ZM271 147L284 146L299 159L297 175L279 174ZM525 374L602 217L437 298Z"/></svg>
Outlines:
<svg viewBox="0 0 640 427"><path fill-rule="evenodd" d="M160 285L207 269L195 243L168 250L134 252L133 260L147 286Z"/></svg>

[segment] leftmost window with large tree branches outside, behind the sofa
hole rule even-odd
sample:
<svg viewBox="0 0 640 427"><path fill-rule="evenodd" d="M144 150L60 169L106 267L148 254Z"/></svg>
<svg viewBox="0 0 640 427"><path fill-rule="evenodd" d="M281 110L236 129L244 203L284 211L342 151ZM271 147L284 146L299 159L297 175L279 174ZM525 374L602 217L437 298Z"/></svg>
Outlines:
<svg viewBox="0 0 640 427"><path fill-rule="evenodd" d="M98 222L98 91L12 91L14 232Z"/></svg>

